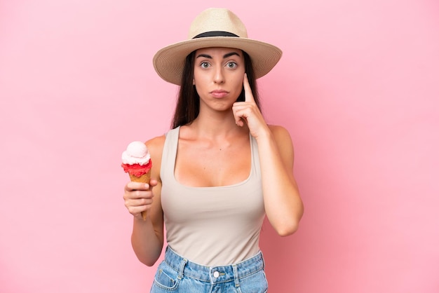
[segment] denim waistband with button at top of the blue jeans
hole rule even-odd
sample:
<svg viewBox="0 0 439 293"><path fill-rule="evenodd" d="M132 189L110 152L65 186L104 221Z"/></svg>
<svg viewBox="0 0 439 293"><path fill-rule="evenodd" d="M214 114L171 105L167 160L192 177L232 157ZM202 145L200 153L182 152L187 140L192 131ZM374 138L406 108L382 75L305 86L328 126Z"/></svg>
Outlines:
<svg viewBox="0 0 439 293"><path fill-rule="evenodd" d="M234 280L236 285L238 285L240 278L257 273L265 267L264 257L260 251L254 257L245 259L236 264L228 266L202 266L201 264L195 264L181 257L170 247L167 247L165 261L171 268L178 272L179 279L183 278L183 276L187 276L212 284Z"/></svg>

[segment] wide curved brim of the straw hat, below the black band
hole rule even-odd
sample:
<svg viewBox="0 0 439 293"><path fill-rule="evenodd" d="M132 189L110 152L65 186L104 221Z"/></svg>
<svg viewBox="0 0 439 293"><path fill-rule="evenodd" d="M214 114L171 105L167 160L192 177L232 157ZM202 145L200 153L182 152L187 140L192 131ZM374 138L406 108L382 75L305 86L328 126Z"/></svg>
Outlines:
<svg viewBox="0 0 439 293"><path fill-rule="evenodd" d="M187 55L194 50L212 47L236 48L248 53L256 79L269 73L282 57L282 50L269 43L239 37L212 36L174 43L158 50L153 58L154 69L165 81L181 86Z"/></svg>

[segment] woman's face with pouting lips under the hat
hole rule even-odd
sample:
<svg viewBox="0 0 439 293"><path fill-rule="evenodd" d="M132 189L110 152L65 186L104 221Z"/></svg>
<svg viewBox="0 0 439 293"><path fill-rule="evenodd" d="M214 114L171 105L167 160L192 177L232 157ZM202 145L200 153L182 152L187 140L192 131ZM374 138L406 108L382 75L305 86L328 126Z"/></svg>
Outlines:
<svg viewBox="0 0 439 293"><path fill-rule="evenodd" d="M243 90L245 63L242 50L203 48L196 50L194 86L201 104L219 111L229 109Z"/></svg>

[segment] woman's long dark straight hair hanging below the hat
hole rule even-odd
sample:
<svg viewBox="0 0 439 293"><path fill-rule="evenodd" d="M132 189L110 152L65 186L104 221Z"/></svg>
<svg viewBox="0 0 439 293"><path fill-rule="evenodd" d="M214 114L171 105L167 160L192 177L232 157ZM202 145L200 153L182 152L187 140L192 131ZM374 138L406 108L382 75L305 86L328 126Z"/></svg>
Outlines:
<svg viewBox="0 0 439 293"><path fill-rule="evenodd" d="M259 94L257 93L257 84L255 79L255 72L252 66L252 60L250 56L243 51L245 73L247 73L248 83L252 89L253 97L255 97L255 103L259 109ZM187 125L192 123L198 114L200 113L200 96L196 92L196 88L193 84L194 81L194 62L195 51L187 55L184 62L182 85L177 96L177 105L175 107L175 113L171 128L177 128L181 125ZM245 101L244 87L239 95L237 102Z"/></svg>

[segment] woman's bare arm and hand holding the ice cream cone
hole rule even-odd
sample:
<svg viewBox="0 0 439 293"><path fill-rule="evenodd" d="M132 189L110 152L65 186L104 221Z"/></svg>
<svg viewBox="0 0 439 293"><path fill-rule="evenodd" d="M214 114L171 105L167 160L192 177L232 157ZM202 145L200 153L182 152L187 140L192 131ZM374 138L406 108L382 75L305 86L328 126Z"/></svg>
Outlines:
<svg viewBox="0 0 439 293"><path fill-rule="evenodd" d="M147 142L151 154L151 182L149 184L128 182L125 186L125 205L133 214L131 245L137 258L147 266L153 266L163 249L163 210L161 209L160 166L163 151L163 137ZM147 219L142 212L147 211Z"/></svg>

